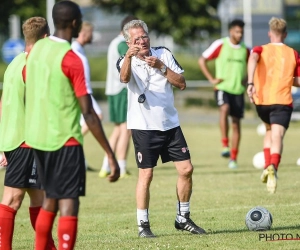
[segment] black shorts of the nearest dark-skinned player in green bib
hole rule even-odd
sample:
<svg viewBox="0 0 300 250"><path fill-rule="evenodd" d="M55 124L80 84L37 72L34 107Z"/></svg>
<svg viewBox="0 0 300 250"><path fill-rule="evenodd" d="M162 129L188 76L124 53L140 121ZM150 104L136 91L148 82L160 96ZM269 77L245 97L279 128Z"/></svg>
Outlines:
<svg viewBox="0 0 300 250"><path fill-rule="evenodd" d="M47 198L75 199L85 195L85 164L82 146L57 151L34 149L34 158Z"/></svg>

